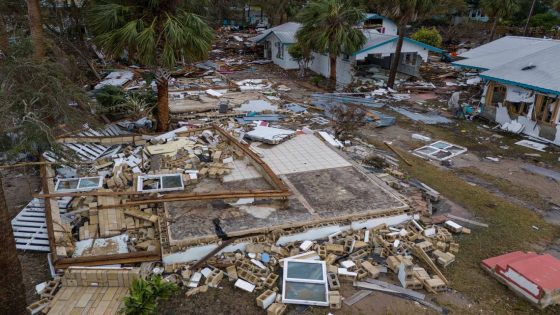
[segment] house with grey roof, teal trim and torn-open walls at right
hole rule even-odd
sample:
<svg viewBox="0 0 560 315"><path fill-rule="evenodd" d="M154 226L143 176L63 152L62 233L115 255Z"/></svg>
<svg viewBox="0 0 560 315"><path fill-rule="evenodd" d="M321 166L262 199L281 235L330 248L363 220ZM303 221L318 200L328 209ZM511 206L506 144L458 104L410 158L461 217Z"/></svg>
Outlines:
<svg viewBox="0 0 560 315"><path fill-rule="evenodd" d="M480 71L482 116L502 129L560 145L560 41L507 36L472 49L455 66Z"/></svg>

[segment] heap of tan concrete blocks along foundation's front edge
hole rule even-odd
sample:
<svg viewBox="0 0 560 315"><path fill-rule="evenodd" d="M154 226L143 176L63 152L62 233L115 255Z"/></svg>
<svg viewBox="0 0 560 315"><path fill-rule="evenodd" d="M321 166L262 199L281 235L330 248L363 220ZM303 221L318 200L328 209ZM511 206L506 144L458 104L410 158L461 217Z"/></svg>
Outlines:
<svg viewBox="0 0 560 315"><path fill-rule="evenodd" d="M195 264L167 265L165 279L189 288L188 297L217 288L227 279L235 287L255 293L256 304L268 308L268 314L282 314L284 304L294 303L339 309L344 299L340 293L341 283L374 290L368 283L380 275L396 283L393 286L398 288L430 293L446 291L449 282L440 268L452 264L459 251L453 234L468 233L470 230L453 221L445 222L444 227L412 220L395 226L380 224L371 229L338 232L323 240L282 245L272 234L252 238L242 250L205 257L206 260ZM319 272L315 283L324 280L328 294L320 290L304 294L292 289L289 283L286 288L286 281L298 277L294 275L296 267L289 265L294 262L324 264L326 279ZM199 269L204 265L206 267ZM294 269L294 274L290 274L290 268ZM311 277L309 272L305 277Z"/></svg>

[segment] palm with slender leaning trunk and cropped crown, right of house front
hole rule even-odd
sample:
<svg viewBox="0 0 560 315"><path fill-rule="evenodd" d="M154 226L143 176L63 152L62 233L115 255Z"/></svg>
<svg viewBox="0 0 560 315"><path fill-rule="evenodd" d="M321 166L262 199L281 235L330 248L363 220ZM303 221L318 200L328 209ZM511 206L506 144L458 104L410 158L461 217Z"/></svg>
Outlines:
<svg viewBox="0 0 560 315"><path fill-rule="evenodd" d="M399 39L395 54L391 60L391 70L387 86L393 88L397 77L397 68L401 59L401 50L404 42L406 25L427 16L435 8L436 0L378 0L380 13L394 20L399 30Z"/></svg>

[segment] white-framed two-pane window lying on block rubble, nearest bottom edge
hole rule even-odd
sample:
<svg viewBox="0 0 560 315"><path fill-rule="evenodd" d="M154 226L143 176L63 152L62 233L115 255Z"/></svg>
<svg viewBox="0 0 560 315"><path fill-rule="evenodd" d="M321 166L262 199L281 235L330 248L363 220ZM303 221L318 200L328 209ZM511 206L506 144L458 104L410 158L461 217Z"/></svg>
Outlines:
<svg viewBox="0 0 560 315"><path fill-rule="evenodd" d="M329 305L326 269L323 261L284 260L282 302L318 306Z"/></svg>

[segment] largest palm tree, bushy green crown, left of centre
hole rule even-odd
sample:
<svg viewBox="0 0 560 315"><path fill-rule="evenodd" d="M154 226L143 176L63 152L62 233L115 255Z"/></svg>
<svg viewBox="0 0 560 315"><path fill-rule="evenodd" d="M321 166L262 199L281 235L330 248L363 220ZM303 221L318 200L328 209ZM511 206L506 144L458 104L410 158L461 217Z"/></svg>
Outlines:
<svg viewBox="0 0 560 315"><path fill-rule="evenodd" d="M169 128L168 69L203 60L214 33L203 19L176 0L110 0L89 11L94 41L109 56L128 52L131 62L153 69L158 94L158 131Z"/></svg>

